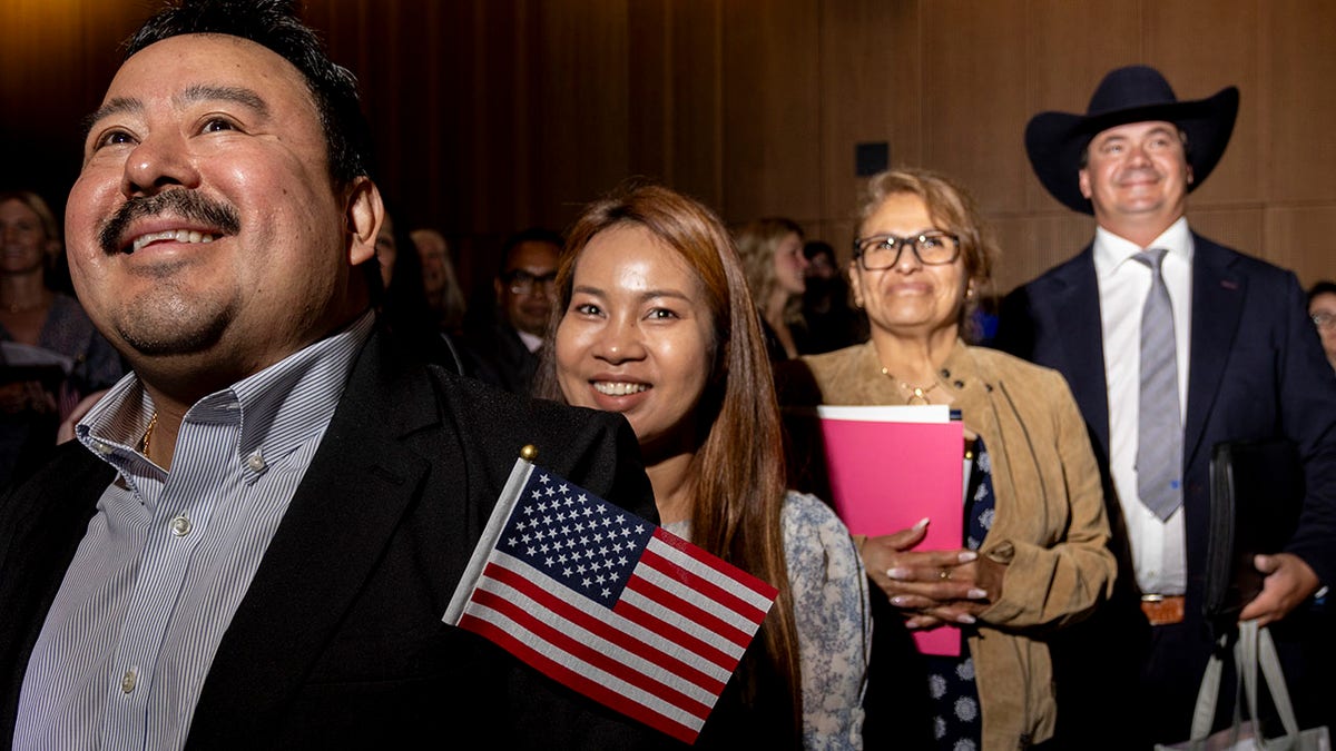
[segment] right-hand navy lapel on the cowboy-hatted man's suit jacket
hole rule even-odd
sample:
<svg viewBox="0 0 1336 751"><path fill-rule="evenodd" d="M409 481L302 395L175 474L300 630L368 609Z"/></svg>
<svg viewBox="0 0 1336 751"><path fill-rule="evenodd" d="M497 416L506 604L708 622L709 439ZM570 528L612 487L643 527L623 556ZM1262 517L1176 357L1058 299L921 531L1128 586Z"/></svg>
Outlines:
<svg viewBox="0 0 1336 751"><path fill-rule="evenodd" d="M1233 270L1233 258L1216 243L1192 235L1192 350L1188 366L1188 412L1184 425L1184 466L1192 466L1202 446L1206 418L1216 404L1220 378L1238 333L1248 279ZM1208 457L1209 458L1209 457Z"/></svg>

